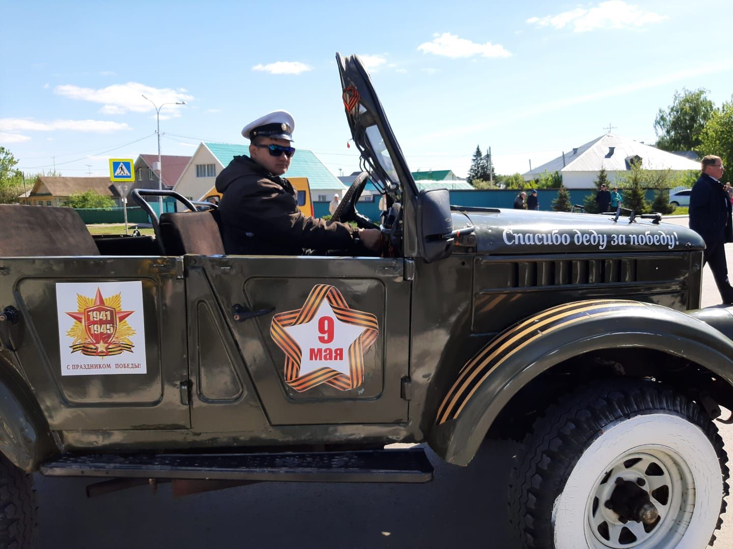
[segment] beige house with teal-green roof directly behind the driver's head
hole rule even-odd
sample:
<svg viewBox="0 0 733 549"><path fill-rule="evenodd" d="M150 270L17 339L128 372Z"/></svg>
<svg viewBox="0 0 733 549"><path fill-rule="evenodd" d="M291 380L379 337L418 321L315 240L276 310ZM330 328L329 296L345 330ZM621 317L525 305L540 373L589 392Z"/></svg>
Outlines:
<svg viewBox="0 0 733 549"><path fill-rule="evenodd" d="M248 144L211 143L202 141L183 169L173 190L189 199L205 196L232 158L249 155ZM331 202L334 194L343 195L346 187L328 171L312 151L298 149L290 161L285 177L308 177L313 202Z"/></svg>

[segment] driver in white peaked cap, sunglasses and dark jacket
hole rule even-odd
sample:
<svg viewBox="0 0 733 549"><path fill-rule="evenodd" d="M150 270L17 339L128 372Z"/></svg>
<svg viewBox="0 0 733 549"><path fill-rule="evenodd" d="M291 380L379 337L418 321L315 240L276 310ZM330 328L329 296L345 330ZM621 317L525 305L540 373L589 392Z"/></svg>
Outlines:
<svg viewBox="0 0 733 549"><path fill-rule="evenodd" d="M377 251L379 229L355 229L336 221L307 217L298 210L290 182L295 120L273 111L242 130L249 156L235 156L216 177L223 196L218 207L221 239L227 254L301 255L303 248L346 250L358 240Z"/></svg>

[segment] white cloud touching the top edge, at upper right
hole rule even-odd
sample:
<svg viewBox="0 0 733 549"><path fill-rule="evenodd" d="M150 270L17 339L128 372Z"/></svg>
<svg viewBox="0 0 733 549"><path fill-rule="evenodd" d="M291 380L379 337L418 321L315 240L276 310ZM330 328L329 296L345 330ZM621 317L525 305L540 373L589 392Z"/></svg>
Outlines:
<svg viewBox="0 0 733 549"><path fill-rule="evenodd" d="M667 19L659 15L627 4L623 0L601 2L596 7L576 7L575 10L545 17L532 17L527 23L538 27L551 26L553 29L564 29L572 26L573 32L588 32L594 29L640 29L649 23L659 23Z"/></svg>

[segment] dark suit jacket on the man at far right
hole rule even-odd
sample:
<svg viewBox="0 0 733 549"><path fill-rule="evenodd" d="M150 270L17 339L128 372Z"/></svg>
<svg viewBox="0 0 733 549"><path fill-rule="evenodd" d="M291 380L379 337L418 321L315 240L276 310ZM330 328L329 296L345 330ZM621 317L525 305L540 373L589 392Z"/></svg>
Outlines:
<svg viewBox="0 0 733 549"><path fill-rule="evenodd" d="M733 242L731 201L719 181L702 174L690 193L690 229L705 241L705 246Z"/></svg>

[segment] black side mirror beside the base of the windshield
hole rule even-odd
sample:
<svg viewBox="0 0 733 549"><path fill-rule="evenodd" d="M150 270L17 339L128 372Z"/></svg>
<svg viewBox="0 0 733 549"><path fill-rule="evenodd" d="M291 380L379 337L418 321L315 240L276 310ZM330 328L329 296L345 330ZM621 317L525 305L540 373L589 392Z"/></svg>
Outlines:
<svg viewBox="0 0 733 549"><path fill-rule="evenodd" d="M420 255L430 263L448 257L453 245L453 218L446 188L423 189L417 196Z"/></svg>

